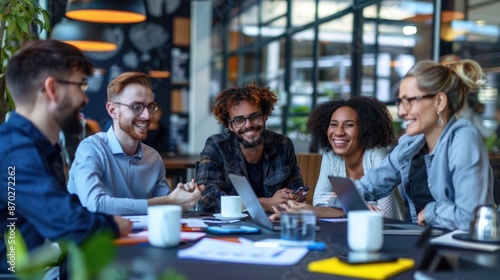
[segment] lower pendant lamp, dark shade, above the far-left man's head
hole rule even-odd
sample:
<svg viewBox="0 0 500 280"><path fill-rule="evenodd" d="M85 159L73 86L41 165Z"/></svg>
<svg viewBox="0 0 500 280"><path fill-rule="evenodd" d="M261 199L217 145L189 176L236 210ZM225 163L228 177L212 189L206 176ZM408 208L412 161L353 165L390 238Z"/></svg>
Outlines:
<svg viewBox="0 0 500 280"><path fill-rule="evenodd" d="M117 46L106 36L108 28L105 24L62 20L53 27L50 38L71 44L82 51L114 51Z"/></svg>

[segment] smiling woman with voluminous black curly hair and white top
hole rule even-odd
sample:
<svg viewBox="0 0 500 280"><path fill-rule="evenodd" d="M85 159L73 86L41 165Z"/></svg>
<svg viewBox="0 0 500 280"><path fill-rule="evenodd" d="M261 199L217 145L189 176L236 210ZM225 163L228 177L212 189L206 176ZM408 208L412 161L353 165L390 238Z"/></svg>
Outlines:
<svg viewBox="0 0 500 280"><path fill-rule="evenodd" d="M345 213L328 176L359 179L379 165L396 145L392 118L375 98L357 96L318 105L307 121L312 142L323 154L313 205L289 202L285 209L314 209L318 217L342 217ZM377 201L385 217L404 219L404 201L398 189ZM290 210L293 211L293 210Z"/></svg>

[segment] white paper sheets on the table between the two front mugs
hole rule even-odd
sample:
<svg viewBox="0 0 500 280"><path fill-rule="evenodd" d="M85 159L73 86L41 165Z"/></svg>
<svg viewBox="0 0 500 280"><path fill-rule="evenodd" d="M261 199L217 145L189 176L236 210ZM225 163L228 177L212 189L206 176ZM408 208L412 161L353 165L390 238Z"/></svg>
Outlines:
<svg viewBox="0 0 500 280"><path fill-rule="evenodd" d="M195 245L180 250L181 259L197 259L263 265L293 265L307 253L306 248L262 248L246 243L235 243L205 238Z"/></svg>

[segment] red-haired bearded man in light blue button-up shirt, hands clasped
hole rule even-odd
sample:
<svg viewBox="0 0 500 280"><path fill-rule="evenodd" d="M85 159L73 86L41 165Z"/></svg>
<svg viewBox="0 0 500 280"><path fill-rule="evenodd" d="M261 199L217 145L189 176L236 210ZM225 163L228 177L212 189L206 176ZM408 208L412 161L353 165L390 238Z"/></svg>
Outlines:
<svg viewBox="0 0 500 280"><path fill-rule="evenodd" d="M108 86L106 109L113 125L78 145L68 190L90 211L113 215L146 214L148 206L158 204L194 207L204 187L192 180L171 192L160 154L141 142L158 111L148 76L116 77Z"/></svg>

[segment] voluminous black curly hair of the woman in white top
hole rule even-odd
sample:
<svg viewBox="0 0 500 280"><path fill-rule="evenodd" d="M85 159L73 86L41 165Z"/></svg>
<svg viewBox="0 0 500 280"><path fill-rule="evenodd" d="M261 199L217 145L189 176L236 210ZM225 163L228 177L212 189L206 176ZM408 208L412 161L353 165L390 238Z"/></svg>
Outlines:
<svg viewBox="0 0 500 280"><path fill-rule="evenodd" d="M392 117L385 104L373 97L355 96L348 100L326 101L311 112L307 120L307 130L318 149L324 152L333 150L327 131L333 112L344 106L353 108L358 114L361 147L373 149L396 145Z"/></svg>

